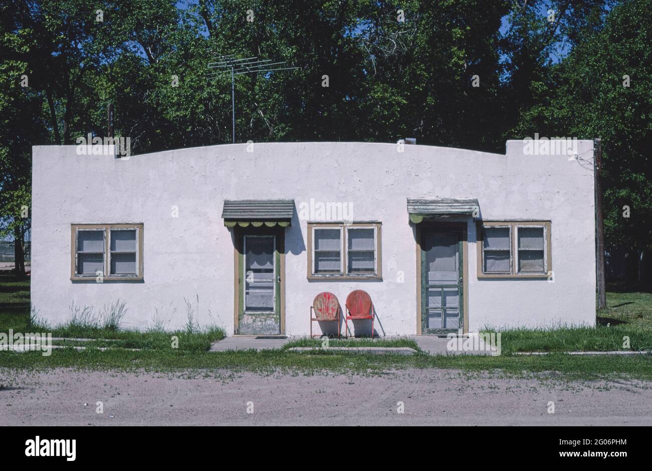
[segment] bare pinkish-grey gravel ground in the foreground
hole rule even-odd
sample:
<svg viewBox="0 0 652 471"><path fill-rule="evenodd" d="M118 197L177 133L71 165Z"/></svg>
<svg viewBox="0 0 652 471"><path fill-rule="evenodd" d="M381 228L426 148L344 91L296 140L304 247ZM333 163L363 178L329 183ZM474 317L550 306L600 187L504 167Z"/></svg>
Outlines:
<svg viewBox="0 0 652 471"><path fill-rule="evenodd" d="M0 424L652 425L652 382L449 370L304 376L0 369Z"/></svg>

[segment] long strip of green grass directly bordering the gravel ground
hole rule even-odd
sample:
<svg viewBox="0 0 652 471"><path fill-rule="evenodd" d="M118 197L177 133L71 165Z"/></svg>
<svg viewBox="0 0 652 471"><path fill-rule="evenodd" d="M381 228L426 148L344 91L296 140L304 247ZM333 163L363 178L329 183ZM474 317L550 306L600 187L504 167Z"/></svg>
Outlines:
<svg viewBox="0 0 652 471"><path fill-rule="evenodd" d="M196 374L220 374L220 371L290 374L387 374L402 369L459 369L467 372L491 372L517 377L540 374L566 380L652 380L652 357L599 356L580 357L550 354L523 356L428 356L349 355L340 352L301 354L284 350L256 352L173 352L168 350L55 350L44 357L39 352L0 352L0 365L12 369L74 369L156 371L194 371Z"/></svg>

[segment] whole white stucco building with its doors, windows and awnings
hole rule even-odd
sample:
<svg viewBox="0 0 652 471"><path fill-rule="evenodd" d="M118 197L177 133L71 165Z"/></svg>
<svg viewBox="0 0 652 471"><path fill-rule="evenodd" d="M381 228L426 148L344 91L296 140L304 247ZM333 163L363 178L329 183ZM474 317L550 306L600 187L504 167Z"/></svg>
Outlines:
<svg viewBox="0 0 652 471"><path fill-rule="evenodd" d="M72 303L120 299L123 327L173 329L188 301L228 335L308 335L317 294L345 309L361 289L379 336L593 326L593 141L570 156L532 144L508 141L506 155L234 144L130 158L37 146L32 307L58 324ZM370 325L349 322L356 335Z"/></svg>

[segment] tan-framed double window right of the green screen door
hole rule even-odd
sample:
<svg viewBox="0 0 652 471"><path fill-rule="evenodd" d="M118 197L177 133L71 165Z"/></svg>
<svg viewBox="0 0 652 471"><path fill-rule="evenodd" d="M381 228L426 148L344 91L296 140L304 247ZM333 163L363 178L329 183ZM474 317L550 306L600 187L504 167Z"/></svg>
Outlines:
<svg viewBox="0 0 652 471"><path fill-rule="evenodd" d="M484 221L477 233L478 278L542 278L552 273L550 221Z"/></svg>

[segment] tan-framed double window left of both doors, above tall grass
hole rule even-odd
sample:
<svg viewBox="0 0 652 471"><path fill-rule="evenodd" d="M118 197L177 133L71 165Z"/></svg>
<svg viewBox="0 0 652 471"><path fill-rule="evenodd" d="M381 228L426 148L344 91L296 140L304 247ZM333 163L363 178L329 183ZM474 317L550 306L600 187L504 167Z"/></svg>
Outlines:
<svg viewBox="0 0 652 471"><path fill-rule="evenodd" d="M143 279L143 224L72 224L70 279Z"/></svg>

